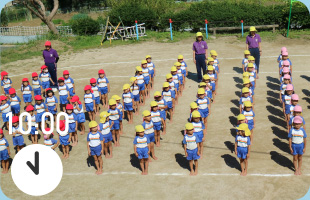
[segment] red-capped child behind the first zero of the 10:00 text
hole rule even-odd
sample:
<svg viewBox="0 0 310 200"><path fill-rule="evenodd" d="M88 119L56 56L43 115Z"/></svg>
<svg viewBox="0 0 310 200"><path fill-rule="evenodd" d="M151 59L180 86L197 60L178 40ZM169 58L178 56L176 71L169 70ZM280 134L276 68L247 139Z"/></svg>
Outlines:
<svg viewBox="0 0 310 200"><path fill-rule="evenodd" d="M12 117L12 134L13 134L13 145L16 147L17 152L19 152L25 145L24 137L21 133L24 130L22 126L19 125L19 117Z"/></svg>

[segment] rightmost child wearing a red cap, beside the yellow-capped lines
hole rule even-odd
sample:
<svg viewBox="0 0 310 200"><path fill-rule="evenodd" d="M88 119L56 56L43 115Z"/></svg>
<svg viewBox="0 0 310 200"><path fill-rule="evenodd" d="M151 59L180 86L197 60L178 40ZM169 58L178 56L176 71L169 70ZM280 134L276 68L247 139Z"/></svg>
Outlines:
<svg viewBox="0 0 310 200"><path fill-rule="evenodd" d="M110 92L110 83L103 69L98 71L99 78L97 79L97 85L99 87L99 92L101 94L100 100L102 100L102 105L104 108L108 107L108 93Z"/></svg>

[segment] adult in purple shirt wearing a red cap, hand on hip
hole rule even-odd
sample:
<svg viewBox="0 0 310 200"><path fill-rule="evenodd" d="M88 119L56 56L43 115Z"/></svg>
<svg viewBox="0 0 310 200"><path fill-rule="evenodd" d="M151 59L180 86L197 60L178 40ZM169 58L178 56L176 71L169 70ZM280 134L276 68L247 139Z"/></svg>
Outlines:
<svg viewBox="0 0 310 200"><path fill-rule="evenodd" d="M45 42L45 49L43 50L43 58L45 65L48 67L48 72L51 74L51 78L54 82L50 82L51 88L57 88L57 62L59 56L55 49L52 49L52 43L50 41Z"/></svg>

